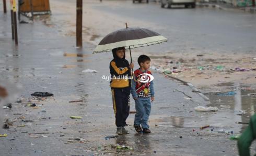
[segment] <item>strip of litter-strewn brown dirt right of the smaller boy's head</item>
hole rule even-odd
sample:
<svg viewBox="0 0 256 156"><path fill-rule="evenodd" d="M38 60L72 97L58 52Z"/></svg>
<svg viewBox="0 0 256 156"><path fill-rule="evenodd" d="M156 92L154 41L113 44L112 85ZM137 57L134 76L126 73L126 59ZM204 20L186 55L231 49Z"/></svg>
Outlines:
<svg viewBox="0 0 256 156"><path fill-rule="evenodd" d="M151 56L153 68L196 87L220 83L256 83L256 58L240 54L173 54ZM239 69L238 69L239 68Z"/></svg>

